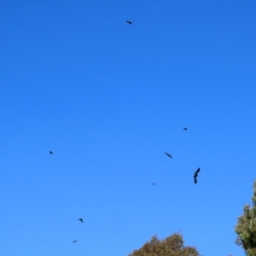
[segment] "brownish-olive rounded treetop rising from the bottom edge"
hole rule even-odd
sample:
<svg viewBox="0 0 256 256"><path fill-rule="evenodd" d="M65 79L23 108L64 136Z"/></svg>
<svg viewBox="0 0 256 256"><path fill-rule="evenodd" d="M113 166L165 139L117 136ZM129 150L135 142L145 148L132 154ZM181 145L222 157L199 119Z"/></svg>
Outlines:
<svg viewBox="0 0 256 256"><path fill-rule="evenodd" d="M159 240L153 236L143 247L133 251L129 256L199 256L195 247L185 247L183 236L174 233L172 236Z"/></svg>

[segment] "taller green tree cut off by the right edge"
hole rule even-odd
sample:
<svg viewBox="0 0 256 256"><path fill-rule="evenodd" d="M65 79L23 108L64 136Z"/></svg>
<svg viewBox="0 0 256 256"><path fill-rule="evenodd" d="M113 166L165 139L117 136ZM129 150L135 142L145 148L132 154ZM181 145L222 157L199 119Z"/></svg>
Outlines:
<svg viewBox="0 0 256 256"><path fill-rule="evenodd" d="M246 205L238 218L235 230L236 244L241 246L247 256L256 255L256 181L253 183L253 207Z"/></svg>

